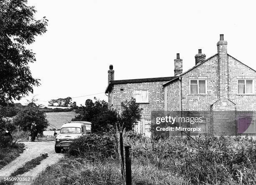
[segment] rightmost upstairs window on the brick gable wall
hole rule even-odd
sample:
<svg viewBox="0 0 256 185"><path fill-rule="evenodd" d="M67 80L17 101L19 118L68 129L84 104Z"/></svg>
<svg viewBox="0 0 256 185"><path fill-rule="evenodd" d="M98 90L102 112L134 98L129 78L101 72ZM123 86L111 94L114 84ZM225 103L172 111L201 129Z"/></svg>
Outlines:
<svg viewBox="0 0 256 185"><path fill-rule="evenodd" d="M237 80L238 94L254 94L254 80Z"/></svg>

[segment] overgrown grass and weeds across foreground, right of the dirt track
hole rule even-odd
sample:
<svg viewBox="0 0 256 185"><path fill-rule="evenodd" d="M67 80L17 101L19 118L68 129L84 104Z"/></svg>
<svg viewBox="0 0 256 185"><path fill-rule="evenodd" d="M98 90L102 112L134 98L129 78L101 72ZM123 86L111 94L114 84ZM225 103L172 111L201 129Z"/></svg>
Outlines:
<svg viewBox="0 0 256 185"><path fill-rule="evenodd" d="M151 140L127 134L124 143L132 147L133 184L256 184L255 140L205 136L195 139L197 142L187 137ZM115 158L91 160L91 156L66 155L33 184L120 185L120 162Z"/></svg>

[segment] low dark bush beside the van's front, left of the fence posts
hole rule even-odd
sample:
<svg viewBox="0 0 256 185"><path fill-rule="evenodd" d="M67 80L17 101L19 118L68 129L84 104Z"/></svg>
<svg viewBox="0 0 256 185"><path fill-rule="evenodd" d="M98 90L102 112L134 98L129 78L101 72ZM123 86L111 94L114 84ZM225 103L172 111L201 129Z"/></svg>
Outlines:
<svg viewBox="0 0 256 185"><path fill-rule="evenodd" d="M111 135L88 134L74 140L70 155L80 155L87 160L116 158L115 138Z"/></svg>

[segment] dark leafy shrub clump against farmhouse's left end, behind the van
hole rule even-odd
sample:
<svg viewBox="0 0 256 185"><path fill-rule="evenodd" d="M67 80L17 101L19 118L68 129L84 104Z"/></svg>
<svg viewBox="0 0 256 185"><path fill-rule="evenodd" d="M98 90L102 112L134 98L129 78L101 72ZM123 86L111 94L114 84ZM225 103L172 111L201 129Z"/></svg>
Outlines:
<svg viewBox="0 0 256 185"><path fill-rule="evenodd" d="M108 102L98 100L95 102L88 99L85 106L79 107L77 115L72 121L89 121L92 122L92 132L110 132L111 126L118 127L118 130L133 130L137 121L141 120L142 108L136 103L136 100L125 100L121 103L122 112L120 115L114 109L108 108ZM119 123L119 124L117 124Z"/></svg>

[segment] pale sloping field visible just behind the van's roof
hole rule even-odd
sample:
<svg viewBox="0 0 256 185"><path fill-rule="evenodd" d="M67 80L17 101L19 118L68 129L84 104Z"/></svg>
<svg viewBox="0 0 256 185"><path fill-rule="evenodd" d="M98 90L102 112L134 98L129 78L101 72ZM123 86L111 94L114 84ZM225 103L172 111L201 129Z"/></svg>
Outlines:
<svg viewBox="0 0 256 185"><path fill-rule="evenodd" d="M71 121L77 114L75 112L46 112L49 127L46 130L53 128L60 129L65 123Z"/></svg>

